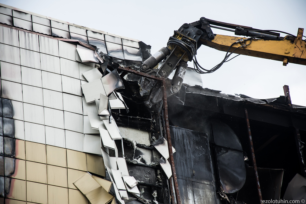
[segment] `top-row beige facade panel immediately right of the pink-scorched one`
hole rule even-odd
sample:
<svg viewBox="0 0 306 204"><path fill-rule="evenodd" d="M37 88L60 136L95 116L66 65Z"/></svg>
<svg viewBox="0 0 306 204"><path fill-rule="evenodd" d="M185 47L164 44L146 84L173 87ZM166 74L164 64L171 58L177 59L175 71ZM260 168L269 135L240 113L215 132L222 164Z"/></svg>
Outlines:
<svg viewBox="0 0 306 204"><path fill-rule="evenodd" d="M47 163L46 145L25 141L26 160Z"/></svg>

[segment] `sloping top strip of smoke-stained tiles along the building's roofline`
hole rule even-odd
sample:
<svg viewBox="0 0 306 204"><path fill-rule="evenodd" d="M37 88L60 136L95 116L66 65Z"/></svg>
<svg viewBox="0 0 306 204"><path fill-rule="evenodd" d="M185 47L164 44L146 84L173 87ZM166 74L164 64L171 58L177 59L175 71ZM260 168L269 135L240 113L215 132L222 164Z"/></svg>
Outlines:
<svg viewBox="0 0 306 204"><path fill-rule="evenodd" d="M1 4L2 5L2 4ZM109 35L103 31L93 31L68 22L39 17L22 11L0 6L0 23L24 28L26 30L53 35L67 39L80 40L97 46L99 52L123 60L142 61L142 53L137 41L117 35Z"/></svg>

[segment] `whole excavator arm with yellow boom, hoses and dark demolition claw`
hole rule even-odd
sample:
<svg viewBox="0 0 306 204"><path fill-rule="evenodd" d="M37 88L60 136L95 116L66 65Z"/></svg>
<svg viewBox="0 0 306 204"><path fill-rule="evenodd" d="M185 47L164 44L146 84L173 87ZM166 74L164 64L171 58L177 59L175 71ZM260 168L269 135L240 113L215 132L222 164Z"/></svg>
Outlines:
<svg viewBox="0 0 306 204"><path fill-rule="evenodd" d="M248 38L216 35L211 28L231 31L235 35L248 36ZM288 63L306 65L306 40L302 39L303 31L303 28L299 28L295 36L286 32L260 30L201 17L200 20L190 24L185 23L174 31L167 46L145 60L140 71L167 78L176 69L172 80L166 80L167 96L171 96L181 89L188 61L193 61L195 71L201 74L216 71L233 53L282 61L285 66ZM280 33L286 34L285 37L281 37ZM205 69L196 60L196 51L201 45L226 51L226 56L212 69ZM155 69L162 60L160 68ZM140 90L141 96L149 95L145 102L149 108L161 100L159 85L154 80L142 78Z"/></svg>

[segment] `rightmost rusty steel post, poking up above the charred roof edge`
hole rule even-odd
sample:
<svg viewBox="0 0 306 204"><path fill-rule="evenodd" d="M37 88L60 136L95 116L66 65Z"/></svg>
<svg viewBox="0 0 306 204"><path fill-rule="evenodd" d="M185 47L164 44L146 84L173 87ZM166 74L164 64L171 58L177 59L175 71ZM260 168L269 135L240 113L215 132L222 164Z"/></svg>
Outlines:
<svg viewBox="0 0 306 204"><path fill-rule="evenodd" d="M287 97L288 105L290 107L290 111L292 110L292 103L291 103L291 98L290 98L290 91L289 91L289 86L284 85L283 86L285 96ZM294 128L294 140L295 140L295 145L297 147L297 154L299 157L299 162L300 162L300 168L301 168L301 173L302 176L306 177L306 165L305 165L305 160L304 160L304 152L302 150L303 145L301 142L301 136L300 136L300 130L297 128Z"/></svg>

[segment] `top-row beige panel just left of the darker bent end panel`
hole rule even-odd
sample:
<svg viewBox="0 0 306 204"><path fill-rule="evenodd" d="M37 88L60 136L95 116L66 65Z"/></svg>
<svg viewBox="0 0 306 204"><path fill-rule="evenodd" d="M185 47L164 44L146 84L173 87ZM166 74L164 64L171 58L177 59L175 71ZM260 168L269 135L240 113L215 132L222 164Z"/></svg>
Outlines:
<svg viewBox="0 0 306 204"><path fill-rule="evenodd" d="M83 152L67 149L67 167L71 169L87 171L86 154Z"/></svg>

